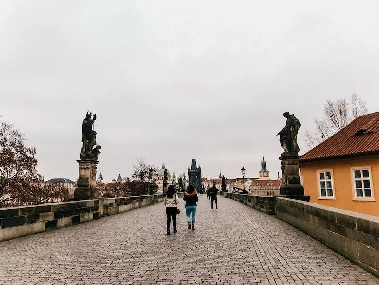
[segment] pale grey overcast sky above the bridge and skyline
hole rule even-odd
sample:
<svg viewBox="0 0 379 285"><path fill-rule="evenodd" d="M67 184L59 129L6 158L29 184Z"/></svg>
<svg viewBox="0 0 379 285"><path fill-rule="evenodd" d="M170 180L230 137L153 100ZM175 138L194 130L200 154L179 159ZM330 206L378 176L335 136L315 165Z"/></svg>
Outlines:
<svg viewBox="0 0 379 285"><path fill-rule="evenodd" d="M294 113L325 98L379 103L377 1L2 1L0 114L37 148L46 179L77 179L81 123L97 113L98 170L136 158L172 173L255 177Z"/></svg>

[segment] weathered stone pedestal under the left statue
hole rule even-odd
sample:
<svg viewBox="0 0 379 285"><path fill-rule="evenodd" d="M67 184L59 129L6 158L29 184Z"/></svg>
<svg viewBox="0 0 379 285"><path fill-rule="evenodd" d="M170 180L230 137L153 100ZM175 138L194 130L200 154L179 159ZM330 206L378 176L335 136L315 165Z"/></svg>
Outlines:
<svg viewBox="0 0 379 285"><path fill-rule="evenodd" d="M74 192L74 199L91 199L99 197L96 188L96 160L77 160L79 164L78 187Z"/></svg>

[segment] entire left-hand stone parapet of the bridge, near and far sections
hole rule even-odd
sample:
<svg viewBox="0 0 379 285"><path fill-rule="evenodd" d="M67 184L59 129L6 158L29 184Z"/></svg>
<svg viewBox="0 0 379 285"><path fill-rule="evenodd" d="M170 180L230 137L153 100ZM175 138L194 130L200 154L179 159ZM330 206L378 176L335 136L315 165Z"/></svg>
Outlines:
<svg viewBox="0 0 379 285"><path fill-rule="evenodd" d="M183 193L178 193L179 198ZM162 202L165 194L0 208L0 241L71 226Z"/></svg>

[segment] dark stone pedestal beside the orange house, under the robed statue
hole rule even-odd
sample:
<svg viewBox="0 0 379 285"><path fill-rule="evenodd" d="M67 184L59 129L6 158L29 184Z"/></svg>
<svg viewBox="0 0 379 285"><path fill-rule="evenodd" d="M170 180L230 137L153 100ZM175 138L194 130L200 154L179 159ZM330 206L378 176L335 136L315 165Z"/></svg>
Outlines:
<svg viewBox="0 0 379 285"><path fill-rule="evenodd" d="M299 158L297 154L283 153L281 160L283 185L280 186L280 195L290 199L309 202L310 196L304 196L304 188L300 184Z"/></svg>

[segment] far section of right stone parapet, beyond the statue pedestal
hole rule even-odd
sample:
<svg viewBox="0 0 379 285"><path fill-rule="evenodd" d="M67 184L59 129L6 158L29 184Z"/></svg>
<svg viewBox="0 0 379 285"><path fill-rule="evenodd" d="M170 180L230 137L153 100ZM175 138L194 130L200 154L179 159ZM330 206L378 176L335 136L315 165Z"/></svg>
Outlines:
<svg viewBox="0 0 379 285"><path fill-rule="evenodd" d="M275 199L272 196L251 196L246 194L223 192L225 198L233 199L244 203L252 208L262 211L269 215L275 215Z"/></svg>

